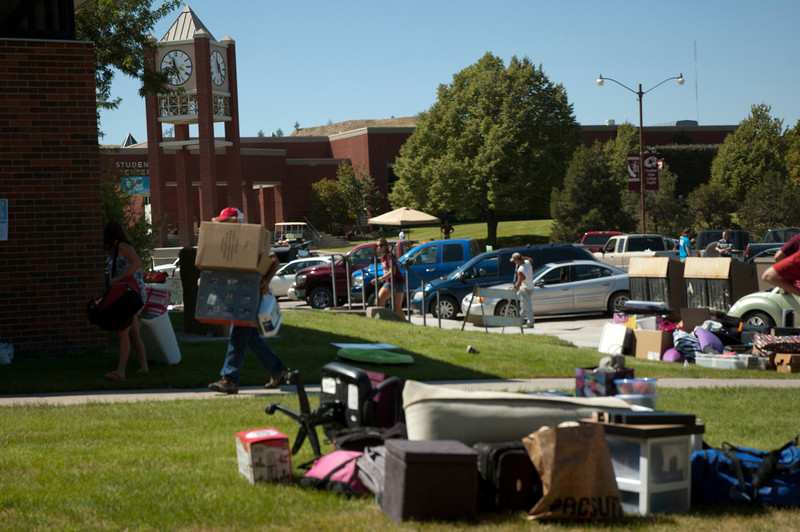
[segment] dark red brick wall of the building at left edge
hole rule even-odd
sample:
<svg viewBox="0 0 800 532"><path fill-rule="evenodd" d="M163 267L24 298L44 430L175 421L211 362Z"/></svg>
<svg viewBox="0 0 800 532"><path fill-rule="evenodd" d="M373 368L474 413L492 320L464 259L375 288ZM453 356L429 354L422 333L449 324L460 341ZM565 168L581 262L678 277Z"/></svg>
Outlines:
<svg viewBox="0 0 800 532"><path fill-rule="evenodd" d="M0 342L17 354L107 344L86 319L103 289L94 51L0 39Z"/></svg>

